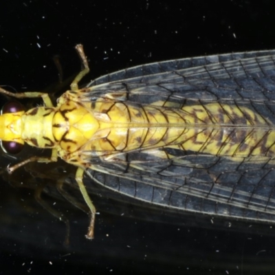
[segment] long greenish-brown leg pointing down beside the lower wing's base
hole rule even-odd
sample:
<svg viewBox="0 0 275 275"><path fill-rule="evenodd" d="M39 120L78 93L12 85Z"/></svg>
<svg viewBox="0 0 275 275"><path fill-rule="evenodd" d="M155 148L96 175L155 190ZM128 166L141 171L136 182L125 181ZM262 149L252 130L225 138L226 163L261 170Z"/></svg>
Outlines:
<svg viewBox="0 0 275 275"><path fill-rule="evenodd" d="M94 204L91 202L91 199L87 193L85 185L83 184L83 174L84 174L83 168L78 168L78 170L76 170L76 182L78 183L80 192L83 195L83 199L85 200L85 202L87 203L87 206L89 207L90 215L91 215L86 238L94 239L94 223L96 219L96 208L94 207Z"/></svg>

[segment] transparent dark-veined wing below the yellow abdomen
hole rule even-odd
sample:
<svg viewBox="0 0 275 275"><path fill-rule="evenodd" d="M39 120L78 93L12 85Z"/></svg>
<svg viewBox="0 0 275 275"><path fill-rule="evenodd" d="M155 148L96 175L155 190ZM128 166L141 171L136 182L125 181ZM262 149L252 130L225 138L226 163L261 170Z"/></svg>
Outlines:
<svg viewBox="0 0 275 275"><path fill-rule="evenodd" d="M175 156L167 159L158 159L153 153L142 162L139 158L139 164L133 160L126 164L94 164L87 173L111 190L155 205L274 221L273 165L257 164L250 159L232 162L212 155L181 157L182 151L174 151Z"/></svg>

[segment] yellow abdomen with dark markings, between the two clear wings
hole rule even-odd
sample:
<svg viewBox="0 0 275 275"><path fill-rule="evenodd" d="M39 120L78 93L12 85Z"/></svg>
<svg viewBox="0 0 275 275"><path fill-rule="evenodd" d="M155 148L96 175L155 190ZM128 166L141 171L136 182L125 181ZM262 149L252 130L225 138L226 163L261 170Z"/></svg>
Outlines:
<svg viewBox="0 0 275 275"><path fill-rule="evenodd" d="M175 109L110 101L96 102L94 115L100 126L87 149L98 155L162 146L211 155L274 154L274 126L247 107L209 103Z"/></svg>

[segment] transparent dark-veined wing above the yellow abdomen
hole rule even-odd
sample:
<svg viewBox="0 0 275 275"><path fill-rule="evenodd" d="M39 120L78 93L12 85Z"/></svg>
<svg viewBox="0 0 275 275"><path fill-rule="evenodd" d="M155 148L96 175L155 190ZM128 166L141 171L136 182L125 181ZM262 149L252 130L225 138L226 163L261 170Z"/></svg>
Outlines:
<svg viewBox="0 0 275 275"><path fill-rule="evenodd" d="M274 100L275 50L164 61L102 76L83 100L120 94L142 104L181 100ZM126 94L126 96L125 96Z"/></svg>

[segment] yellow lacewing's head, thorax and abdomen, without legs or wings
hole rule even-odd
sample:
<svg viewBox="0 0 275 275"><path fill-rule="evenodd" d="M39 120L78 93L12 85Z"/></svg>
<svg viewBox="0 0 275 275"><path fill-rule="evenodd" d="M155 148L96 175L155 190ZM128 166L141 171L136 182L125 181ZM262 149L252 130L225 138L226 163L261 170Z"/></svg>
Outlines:
<svg viewBox="0 0 275 275"><path fill-rule="evenodd" d="M141 109L113 100L96 102L93 108L91 104L74 101L72 96L67 96L69 93L67 91L62 96L56 107L36 107L25 113L3 114L1 124L5 125L5 131L1 140L26 142L39 148L56 148L58 156L68 162L69 154L80 148L96 151L102 156L141 147L149 149L175 145L212 155L261 155L263 146L274 153L274 130L268 135L265 131L254 131L248 135L254 125L263 129L268 125L247 108L240 111L236 107L221 107L218 103L212 103L182 109L155 106ZM226 109L229 115L221 115L221 109ZM250 120L245 119L243 113L249 115ZM241 133L240 136L230 137L230 130L238 127L232 125L230 116L239 120L241 129L236 133ZM212 122L210 117L217 119ZM10 118L12 121L8 124ZM7 129L10 129L9 133ZM243 135L247 136L245 140ZM81 161L81 156L78 163L87 165Z"/></svg>

